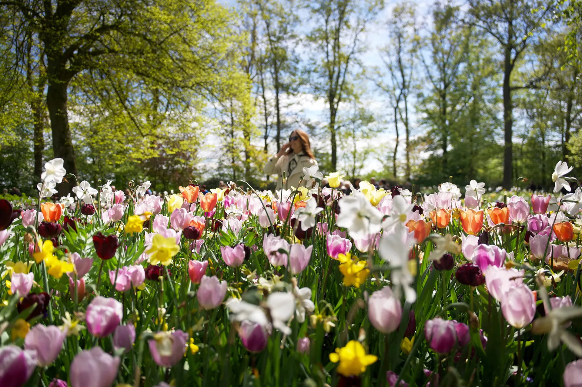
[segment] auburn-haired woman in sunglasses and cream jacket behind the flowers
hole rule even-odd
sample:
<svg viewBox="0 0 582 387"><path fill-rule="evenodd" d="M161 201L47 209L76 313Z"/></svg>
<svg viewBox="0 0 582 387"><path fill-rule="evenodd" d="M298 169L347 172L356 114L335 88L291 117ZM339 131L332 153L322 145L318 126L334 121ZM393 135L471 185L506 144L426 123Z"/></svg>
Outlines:
<svg viewBox="0 0 582 387"><path fill-rule="evenodd" d="M305 185L303 179L303 169L317 165L315 156L311 152L309 136L303 130L294 130L289 136L289 142L284 144L275 156L271 157L263 172L268 175L277 174L276 189L289 189L291 187L301 187ZM283 181L285 173L286 182Z"/></svg>

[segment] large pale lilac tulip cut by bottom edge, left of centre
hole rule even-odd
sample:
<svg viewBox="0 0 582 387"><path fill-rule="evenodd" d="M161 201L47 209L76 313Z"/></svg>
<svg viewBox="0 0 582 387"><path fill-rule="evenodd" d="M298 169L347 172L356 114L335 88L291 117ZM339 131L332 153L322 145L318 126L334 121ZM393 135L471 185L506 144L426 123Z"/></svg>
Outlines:
<svg viewBox="0 0 582 387"><path fill-rule="evenodd" d="M111 387L119 370L119 357L93 347L78 353L70 366L71 387Z"/></svg>

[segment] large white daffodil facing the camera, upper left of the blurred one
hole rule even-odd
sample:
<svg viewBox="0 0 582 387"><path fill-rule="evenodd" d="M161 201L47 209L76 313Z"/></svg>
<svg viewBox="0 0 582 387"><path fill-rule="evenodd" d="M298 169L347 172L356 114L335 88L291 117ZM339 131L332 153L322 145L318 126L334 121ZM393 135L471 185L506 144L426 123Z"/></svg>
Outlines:
<svg viewBox="0 0 582 387"><path fill-rule="evenodd" d="M370 204L365 195L355 192L339 199L339 215L336 225L345 227L352 238L376 234L381 229L382 214Z"/></svg>

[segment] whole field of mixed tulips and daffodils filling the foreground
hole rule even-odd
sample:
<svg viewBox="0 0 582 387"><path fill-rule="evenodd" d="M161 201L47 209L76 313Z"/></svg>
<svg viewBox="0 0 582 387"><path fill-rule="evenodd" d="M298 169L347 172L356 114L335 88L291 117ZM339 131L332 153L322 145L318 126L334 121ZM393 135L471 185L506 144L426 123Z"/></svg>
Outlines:
<svg viewBox="0 0 582 387"><path fill-rule="evenodd" d="M346 195L314 166L299 189L81 181L52 203L62 163L34 208L0 200L0 387L582 385L566 163L497 201Z"/></svg>

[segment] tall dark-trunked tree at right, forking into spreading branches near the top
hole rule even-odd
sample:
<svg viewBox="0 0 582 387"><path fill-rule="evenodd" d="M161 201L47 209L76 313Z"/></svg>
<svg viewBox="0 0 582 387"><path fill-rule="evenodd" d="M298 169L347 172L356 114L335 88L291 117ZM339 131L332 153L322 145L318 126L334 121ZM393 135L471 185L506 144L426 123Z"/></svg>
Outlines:
<svg viewBox="0 0 582 387"><path fill-rule="evenodd" d="M545 26L549 8L545 2L535 0L469 0L471 25L482 28L499 45L503 55L503 187L513 185L513 101L512 92L517 89L535 87L535 80L516 84L512 80L513 70L523 55L534 33ZM538 9L538 12L532 12Z"/></svg>

